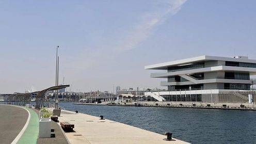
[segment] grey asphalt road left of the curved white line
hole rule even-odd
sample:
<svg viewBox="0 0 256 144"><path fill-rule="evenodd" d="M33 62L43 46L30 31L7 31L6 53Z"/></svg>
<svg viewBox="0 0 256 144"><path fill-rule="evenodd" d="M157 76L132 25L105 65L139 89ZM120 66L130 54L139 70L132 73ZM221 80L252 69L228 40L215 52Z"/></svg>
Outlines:
<svg viewBox="0 0 256 144"><path fill-rule="evenodd" d="M0 105L0 143L11 143L21 132L28 118L25 109Z"/></svg>

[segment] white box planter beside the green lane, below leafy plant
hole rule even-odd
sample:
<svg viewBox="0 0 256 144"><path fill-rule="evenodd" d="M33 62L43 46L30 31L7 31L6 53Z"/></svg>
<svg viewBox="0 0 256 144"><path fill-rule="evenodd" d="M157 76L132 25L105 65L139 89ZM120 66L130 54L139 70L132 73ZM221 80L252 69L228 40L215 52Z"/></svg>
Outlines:
<svg viewBox="0 0 256 144"><path fill-rule="evenodd" d="M41 118L39 121L39 138L51 137L51 118Z"/></svg>

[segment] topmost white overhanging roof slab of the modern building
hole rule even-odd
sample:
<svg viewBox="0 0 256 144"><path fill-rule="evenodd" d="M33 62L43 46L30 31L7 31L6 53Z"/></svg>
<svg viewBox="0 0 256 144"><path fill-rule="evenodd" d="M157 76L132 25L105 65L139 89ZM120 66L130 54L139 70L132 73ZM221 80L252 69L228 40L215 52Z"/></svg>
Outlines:
<svg viewBox="0 0 256 144"><path fill-rule="evenodd" d="M223 61L256 63L256 60L254 60L254 59L244 59L244 58L219 57L219 56L206 56L206 55L203 55L203 56L186 58L186 59L180 59L180 60L174 60L174 61L169 61L169 62L156 63L154 65L145 66L145 69L161 69L161 68L164 68L164 67L167 67L167 66L183 65L183 64L189 63L189 62L196 62L196 61L203 61L203 60L223 60Z"/></svg>

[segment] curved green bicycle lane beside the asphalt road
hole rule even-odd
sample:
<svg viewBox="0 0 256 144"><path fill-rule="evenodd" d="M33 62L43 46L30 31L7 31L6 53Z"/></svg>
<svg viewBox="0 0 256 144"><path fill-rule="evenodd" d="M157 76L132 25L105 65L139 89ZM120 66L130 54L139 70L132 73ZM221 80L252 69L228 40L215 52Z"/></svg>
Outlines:
<svg viewBox="0 0 256 144"><path fill-rule="evenodd" d="M24 107L25 108L25 107ZM26 108L30 113L30 120L27 129L17 142L18 144L23 143L37 143L37 138L39 135L39 118L36 111L31 108Z"/></svg>

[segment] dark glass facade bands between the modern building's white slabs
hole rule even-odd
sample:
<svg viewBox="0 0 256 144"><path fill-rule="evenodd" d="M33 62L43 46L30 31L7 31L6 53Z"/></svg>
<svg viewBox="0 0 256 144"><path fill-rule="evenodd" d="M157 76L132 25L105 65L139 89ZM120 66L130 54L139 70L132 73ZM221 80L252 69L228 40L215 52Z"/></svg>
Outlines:
<svg viewBox="0 0 256 144"><path fill-rule="evenodd" d="M206 62L197 62L197 63L188 63L185 65L180 65L180 66L171 66L168 67L167 70L168 72L176 72L176 71L184 71L184 70L191 70L191 69L200 69L200 68L206 68L206 67L215 67L218 65L221 66L231 66L231 67L248 67L248 68L256 68L256 63L248 63L248 62L235 62L235 61L220 61L216 60L217 62L212 62L212 61L206 61ZM223 78L221 73L220 74L214 75L215 73L212 74L207 74L205 75L204 73L193 73L193 74L188 74L191 77L194 77L195 79L204 79L204 76L206 77L221 77ZM250 80L250 73L249 72L225 72L225 79L241 79L241 80ZM181 76L169 76L168 77L168 83L171 82L188 82L187 79L181 77ZM174 86L168 86L169 91L179 91L179 90L200 90L204 89L203 87L204 84L194 84L194 85L174 85ZM216 84L215 84L216 85ZM217 84L217 87L223 89L236 89L236 90L249 90L250 89L250 84L238 84L238 83L221 83ZM211 85L210 85L211 87ZM216 86L212 86L215 87ZM206 87L205 87L206 88ZM182 98L180 98L182 99Z"/></svg>

